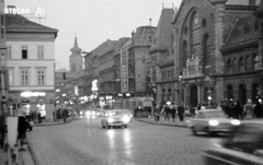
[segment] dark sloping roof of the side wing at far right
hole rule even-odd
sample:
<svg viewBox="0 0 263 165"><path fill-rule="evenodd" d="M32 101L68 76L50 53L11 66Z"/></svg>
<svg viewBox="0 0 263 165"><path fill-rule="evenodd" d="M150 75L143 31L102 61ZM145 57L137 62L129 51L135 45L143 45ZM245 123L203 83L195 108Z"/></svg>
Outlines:
<svg viewBox="0 0 263 165"><path fill-rule="evenodd" d="M260 36L259 26L260 24L256 24L256 17L254 15L238 20L221 50L232 50L240 46L244 47L256 43Z"/></svg>

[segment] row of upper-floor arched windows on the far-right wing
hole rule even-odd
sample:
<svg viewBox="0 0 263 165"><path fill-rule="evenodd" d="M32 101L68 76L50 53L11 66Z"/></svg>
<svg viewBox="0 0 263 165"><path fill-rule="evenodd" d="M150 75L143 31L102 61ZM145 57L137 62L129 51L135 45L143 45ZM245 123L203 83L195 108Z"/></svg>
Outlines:
<svg viewBox="0 0 263 165"><path fill-rule="evenodd" d="M227 60L227 73L255 71L259 69L259 56L252 55L245 58L233 58Z"/></svg>

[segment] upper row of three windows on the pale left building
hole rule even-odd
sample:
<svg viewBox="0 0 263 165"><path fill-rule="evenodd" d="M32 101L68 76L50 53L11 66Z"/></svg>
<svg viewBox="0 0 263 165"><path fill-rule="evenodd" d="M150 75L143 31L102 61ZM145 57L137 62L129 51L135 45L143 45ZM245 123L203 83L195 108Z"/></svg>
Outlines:
<svg viewBox="0 0 263 165"><path fill-rule="evenodd" d="M12 46L7 47L8 59L12 59ZM28 59L28 47L21 46L21 59ZM37 46L37 59L44 59L44 46Z"/></svg>

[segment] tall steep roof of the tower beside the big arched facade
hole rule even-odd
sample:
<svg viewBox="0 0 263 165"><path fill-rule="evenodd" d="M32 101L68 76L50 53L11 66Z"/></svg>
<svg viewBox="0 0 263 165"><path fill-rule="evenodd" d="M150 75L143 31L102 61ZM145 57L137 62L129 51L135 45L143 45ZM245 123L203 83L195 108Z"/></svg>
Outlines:
<svg viewBox="0 0 263 165"><path fill-rule="evenodd" d="M155 34L155 44L150 47L149 52L164 51L172 46L172 16L173 9L162 9L161 16Z"/></svg>

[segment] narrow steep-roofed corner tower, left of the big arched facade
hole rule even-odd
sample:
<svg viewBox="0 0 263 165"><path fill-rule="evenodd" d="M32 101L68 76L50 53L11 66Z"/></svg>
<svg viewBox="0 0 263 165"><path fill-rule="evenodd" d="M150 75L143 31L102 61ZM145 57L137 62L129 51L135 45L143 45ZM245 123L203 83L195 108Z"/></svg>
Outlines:
<svg viewBox="0 0 263 165"><path fill-rule="evenodd" d="M173 48L173 27L171 20L174 15L173 9L162 9L153 43L149 49L150 58L148 82L156 104L164 102L175 102L174 86L174 48Z"/></svg>

